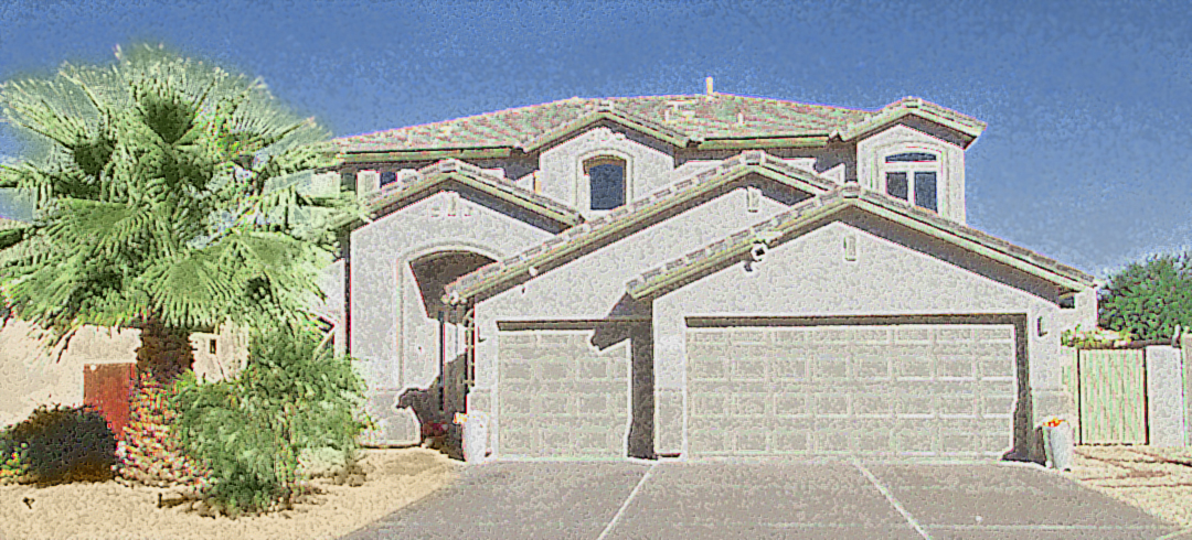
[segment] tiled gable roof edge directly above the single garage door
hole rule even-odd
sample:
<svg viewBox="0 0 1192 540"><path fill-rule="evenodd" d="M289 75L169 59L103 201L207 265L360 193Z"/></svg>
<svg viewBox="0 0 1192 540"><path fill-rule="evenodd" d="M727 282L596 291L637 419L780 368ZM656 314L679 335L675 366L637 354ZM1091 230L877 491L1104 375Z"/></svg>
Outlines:
<svg viewBox="0 0 1192 540"><path fill-rule="evenodd" d="M578 257L596 245L616 241L658 219L668 211L737 182L749 175L799 189L807 194L830 191L831 180L797 169L762 151L747 151L724 161L719 167L697 171L646 197L621 206L600 219L584 222L522 253L483 266L446 287L446 301L458 303L476 297L526 275L538 275ZM527 274L528 272L528 274Z"/></svg>

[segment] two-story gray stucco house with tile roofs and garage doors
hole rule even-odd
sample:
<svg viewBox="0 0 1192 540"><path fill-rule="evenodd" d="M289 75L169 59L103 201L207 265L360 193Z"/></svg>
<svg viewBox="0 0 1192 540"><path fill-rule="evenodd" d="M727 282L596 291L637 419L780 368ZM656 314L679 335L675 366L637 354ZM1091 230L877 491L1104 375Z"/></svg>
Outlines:
<svg viewBox="0 0 1192 540"><path fill-rule="evenodd" d="M337 139L319 178L373 219L324 312L373 442L416 438L397 396L446 379L496 458L1036 456L1097 284L966 224L983 128L709 80Z"/></svg>

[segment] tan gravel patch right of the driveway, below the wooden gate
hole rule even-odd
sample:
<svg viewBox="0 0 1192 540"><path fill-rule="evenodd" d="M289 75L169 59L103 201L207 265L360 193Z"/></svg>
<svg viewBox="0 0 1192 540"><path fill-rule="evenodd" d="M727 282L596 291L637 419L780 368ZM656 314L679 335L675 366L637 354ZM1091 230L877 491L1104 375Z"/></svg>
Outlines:
<svg viewBox="0 0 1192 540"><path fill-rule="evenodd" d="M1192 448L1078 446L1072 478L1192 529ZM1192 530L1186 536L1192 538Z"/></svg>

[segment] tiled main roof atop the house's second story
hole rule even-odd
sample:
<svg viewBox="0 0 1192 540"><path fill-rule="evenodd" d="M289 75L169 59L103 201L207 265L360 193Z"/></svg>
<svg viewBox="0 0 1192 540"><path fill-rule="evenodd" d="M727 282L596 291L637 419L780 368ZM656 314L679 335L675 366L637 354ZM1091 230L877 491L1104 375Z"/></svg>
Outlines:
<svg viewBox="0 0 1192 540"><path fill-rule="evenodd" d="M902 114L919 112L976 137L985 124L917 98L877 111L796 103L733 94L659 95L552 101L454 120L335 139L344 152L533 149L567 126L603 114L637 124L676 144L687 140L840 136L848 139ZM681 145L682 145L681 144Z"/></svg>

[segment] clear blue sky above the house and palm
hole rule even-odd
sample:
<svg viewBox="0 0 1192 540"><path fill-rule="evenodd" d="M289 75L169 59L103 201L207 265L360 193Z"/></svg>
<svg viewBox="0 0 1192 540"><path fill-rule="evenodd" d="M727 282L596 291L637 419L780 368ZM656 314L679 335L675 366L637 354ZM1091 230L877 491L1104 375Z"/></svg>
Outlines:
<svg viewBox="0 0 1192 540"><path fill-rule="evenodd" d="M262 77L337 137L706 76L856 108L917 95L989 124L969 225L1099 277L1192 238L1185 2L0 4L0 80L151 39Z"/></svg>

